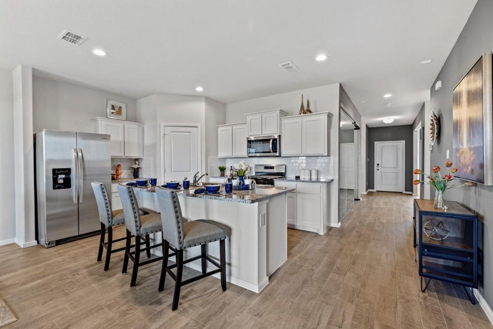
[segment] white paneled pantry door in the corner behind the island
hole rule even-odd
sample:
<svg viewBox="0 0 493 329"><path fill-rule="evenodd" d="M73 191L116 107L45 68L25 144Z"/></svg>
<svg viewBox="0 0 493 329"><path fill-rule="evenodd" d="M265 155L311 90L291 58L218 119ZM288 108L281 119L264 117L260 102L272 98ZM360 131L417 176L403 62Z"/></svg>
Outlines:
<svg viewBox="0 0 493 329"><path fill-rule="evenodd" d="M199 129L164 127L164 181L192 180L199 171Z"/></svg>

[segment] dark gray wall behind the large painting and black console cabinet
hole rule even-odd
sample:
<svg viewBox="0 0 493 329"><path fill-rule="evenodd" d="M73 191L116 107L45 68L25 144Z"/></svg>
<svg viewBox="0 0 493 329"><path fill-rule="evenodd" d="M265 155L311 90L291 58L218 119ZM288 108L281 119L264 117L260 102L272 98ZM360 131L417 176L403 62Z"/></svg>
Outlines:
<svg viewBox="0 0 493 329"><path fill-rule="evenodd" d="M431 165L443 166L449 149L452 158L452 89L481 57L493 50L493 1L479 0L431 88L431 108L439 115L440 141L431 152ZM441 80L442 89L435 83ZM434 195L433 193L431 195ZM447 200L458 201L478 213L484 223L484 281L479 290L493 307L493 186L476 185L447 191Z"/></svg>

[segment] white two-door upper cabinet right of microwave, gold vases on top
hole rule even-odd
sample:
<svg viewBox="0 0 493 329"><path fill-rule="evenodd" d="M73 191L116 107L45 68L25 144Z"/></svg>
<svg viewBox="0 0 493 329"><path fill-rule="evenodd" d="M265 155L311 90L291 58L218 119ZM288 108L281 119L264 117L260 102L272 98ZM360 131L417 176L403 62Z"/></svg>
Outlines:
<svg viewBox="0 0 493 329"><path fill-rule="evenodd" d="M329 115L320 112L281 118L281 155L330 155Z"/></svg>

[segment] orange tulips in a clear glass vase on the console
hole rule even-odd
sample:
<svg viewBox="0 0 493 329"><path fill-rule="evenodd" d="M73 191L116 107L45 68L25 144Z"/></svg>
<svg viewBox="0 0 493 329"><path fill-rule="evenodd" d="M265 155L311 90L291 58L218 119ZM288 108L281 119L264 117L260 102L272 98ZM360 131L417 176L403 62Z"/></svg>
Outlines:
<svg viewBox="0 0 493 329"><path fill-rule="evenodd" d="M428 178L428 182L424 182L424 183L427 183L436 189L435 201L433 202L433 207L438 208L438 209L443 209L443 210L446 210L448 208L446 203L445 203L446 200L444 199L444 194L445 194L445 191L447 190L447 188L459 188L459 187L464 186L464 185L465 186L473 186L474 185L474 183L470 182L470 181L465 181L464 184L460 184L460 185L457 185L457 184L451 185L452 181L457 180L456 178L453 177L453 174L455 174L458 169L455 167L450 169L450 167L452 167L451 161L447 161L445 163L445 166L447 167L447 171L449 173L444 175L444 177L442 177L442 174L440 174L440 167L439 166L435 166L432 168L432 170L431 170L432 174L431 175L424 173L422 170L414 169L415 175L423 174L424 176L426 176L426 178ZM414 185L421 184L421 180L413 180L412 184L414 184Z"/></svg>

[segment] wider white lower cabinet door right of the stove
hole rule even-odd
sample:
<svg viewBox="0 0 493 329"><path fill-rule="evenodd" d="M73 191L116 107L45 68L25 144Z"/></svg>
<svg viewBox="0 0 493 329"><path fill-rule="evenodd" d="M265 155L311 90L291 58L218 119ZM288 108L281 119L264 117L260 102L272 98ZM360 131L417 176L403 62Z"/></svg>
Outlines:
<svg viewBox="0 0 493 329"><path fill-rule="evenodd" d="M296 193L296 225L320 229L320 194Z"/></svg>

